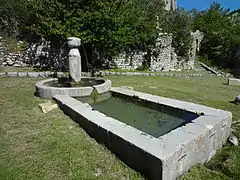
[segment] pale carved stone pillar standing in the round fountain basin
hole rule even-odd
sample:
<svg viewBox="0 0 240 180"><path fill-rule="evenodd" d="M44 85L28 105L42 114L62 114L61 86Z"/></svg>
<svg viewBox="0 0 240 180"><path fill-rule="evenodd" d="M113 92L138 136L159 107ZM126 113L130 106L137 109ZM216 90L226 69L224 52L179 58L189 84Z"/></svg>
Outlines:
<svg viewBox="0 0 240 180"><path fill-rule="evenodd" d="M68 53L68 63L69 63L69 80L73 83L78 83L81 81L81 55L79 53L78 47L81 45L81 39L76 37L68 38L68 47L70 51Z"/></svg>

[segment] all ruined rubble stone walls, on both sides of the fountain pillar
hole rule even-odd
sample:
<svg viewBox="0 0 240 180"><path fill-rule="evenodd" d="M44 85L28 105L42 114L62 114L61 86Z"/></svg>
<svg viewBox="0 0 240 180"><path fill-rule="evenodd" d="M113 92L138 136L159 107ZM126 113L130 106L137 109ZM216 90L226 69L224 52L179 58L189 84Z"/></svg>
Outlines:
<svg viewBox="0 0 240 180"><path fill-rule="evenodd" d="M193 69L203 33L196 31L192 32L191 36L193 37L192 46L186 61L175 53L175 49L172 47L172 34L159 33L156 44L151 50L150 70L159 72L173 69ZM19 41L17 46L21 43L23 42ZM5 40L0 37L0 66L62 67L64 66L63 62L67 62L65 58L67 56L62 56L58 51L51 49L50 42L44 39L30 45L23 52L9 53ZM147 52L134 51L122 53L113 61L117 68L135 70L146 62L146 58Z"/></svg>

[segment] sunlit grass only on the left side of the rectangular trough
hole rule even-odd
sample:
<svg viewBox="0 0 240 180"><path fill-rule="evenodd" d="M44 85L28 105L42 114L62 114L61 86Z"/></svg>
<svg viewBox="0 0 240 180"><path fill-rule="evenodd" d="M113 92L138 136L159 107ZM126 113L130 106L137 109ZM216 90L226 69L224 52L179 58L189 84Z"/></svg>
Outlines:
<svg viewBox="0 0 240 180"><path fill-rule="evenodd" d="M0 179L141 179L59 109L43 114L39 79L0 79Z"/></svg>

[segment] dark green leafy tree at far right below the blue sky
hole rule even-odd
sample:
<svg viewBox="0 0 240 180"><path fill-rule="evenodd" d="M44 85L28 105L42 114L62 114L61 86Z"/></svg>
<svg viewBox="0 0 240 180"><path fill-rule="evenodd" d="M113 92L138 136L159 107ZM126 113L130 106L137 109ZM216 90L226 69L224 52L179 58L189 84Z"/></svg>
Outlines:
<svg viewBox="0 0 240 180"><path fill-rule="evenodd" d="M234 49L240 44L240 24L234 22L229 9L214 2L210 8L193 13L193 28L204 32L201 55L221 67L232 67Z"/></svg>

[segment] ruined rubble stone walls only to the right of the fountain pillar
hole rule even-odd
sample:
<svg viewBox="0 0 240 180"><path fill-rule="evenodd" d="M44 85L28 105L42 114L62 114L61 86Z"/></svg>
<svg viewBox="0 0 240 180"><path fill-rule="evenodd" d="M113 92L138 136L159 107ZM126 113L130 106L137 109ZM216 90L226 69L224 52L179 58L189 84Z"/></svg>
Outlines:
<svg viewBox="0 0 240 180"><path fill-rule="evenodd" d="M172 47L172 34L159 33L155 47L151 52L150 70L169 71L173 69L194 69L196 53L199 51L203 33L192 32L192 44L188 57L181 58ZM120 69L135 70L146 61L147 52L122 53L114 60L116 67Z"/></svg>

